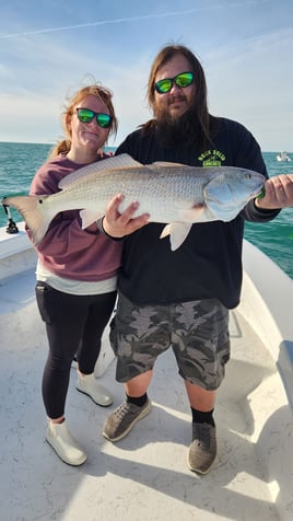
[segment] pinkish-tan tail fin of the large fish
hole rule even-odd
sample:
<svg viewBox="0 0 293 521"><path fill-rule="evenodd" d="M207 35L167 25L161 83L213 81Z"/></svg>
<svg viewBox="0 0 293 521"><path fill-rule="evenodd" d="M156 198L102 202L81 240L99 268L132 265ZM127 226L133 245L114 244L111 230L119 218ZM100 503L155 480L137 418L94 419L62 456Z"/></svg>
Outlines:
<svg viewBox="0 0 293 521"><path fill-rule="evenodd" d="M37 246L48 230L50 219L43 210L42 202L48 196L5 197L2 205L12 206L23 217L34 246Z"/></svg>

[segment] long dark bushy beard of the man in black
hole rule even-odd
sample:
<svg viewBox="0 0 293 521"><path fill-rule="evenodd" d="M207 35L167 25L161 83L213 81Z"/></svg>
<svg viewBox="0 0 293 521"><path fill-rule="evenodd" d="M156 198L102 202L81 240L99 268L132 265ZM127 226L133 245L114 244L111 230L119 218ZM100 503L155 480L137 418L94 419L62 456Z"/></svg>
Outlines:
<svg viewBox="0 0 293 521"><path fill-rule="evenodd" d="M163 147L173 148L196 143L198 140L198 115L190 107L181 116L172 116L156 108L156 138Z"/></svg>

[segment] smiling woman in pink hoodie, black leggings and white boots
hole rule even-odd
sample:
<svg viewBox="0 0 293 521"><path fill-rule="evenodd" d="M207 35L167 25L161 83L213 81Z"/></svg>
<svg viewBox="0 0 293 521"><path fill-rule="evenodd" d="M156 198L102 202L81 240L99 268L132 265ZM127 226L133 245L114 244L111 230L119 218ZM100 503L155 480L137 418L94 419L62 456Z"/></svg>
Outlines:
<svg viewBox="0 0 293 521"><path fill-rule="evenodd" d="M67 139L36 173L31 194L59 192L62 177L107 157L101 149L117 132L112 93L97 84L82 88L66 108L63 128ZM77 354L77 389L98 405L113 403L110 393L97 383L94 367L116 300L121 245L101 233L96 223L83 230L74 210L55 217L36 250L36 299L49 343L42 385L46 439L62 461L81 465L86 454L65 418L70 369Z"/></svg>

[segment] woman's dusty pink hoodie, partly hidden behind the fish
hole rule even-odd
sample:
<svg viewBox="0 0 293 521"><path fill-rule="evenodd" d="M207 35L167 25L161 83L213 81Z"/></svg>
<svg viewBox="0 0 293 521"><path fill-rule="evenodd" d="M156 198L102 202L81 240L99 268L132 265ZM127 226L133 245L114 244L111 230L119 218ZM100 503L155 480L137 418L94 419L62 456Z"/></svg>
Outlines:
<svg viewBox="0 0 293 521"><path fill-rule="evenodd" d="M66 157L46 162L35 174L30 194L60 192L58 184L66 175L81 169ZM30 236L30 230L27 231ZM40 263L51 273L81 281L112 278L120 266L122 241L112 241L97 230L96 223L81 228L79 210L58 213L36 247Z"/></svg>

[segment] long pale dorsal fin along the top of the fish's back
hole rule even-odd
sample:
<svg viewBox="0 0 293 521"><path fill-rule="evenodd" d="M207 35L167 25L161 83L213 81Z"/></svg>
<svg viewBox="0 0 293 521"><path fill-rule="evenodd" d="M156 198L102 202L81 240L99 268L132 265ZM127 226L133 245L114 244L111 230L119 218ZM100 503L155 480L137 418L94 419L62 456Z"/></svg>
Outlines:
<svg viewBox="0 0 293 521"><path fill-rule="evenodd" d="M121 153L119 155L114 155L113 158L103 159L102 161L96 161L86 166L83 166L79 170L75 170L71 174L66 175L60 182L58 187L63 189L66 186L71 185L78 180L85 177L96 172L105 172L106 170L117 170L117 169L127 169L127 167L141 167L142 164L131 158L128 153Z"/></svg>

